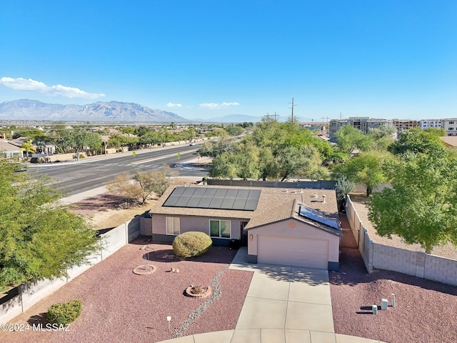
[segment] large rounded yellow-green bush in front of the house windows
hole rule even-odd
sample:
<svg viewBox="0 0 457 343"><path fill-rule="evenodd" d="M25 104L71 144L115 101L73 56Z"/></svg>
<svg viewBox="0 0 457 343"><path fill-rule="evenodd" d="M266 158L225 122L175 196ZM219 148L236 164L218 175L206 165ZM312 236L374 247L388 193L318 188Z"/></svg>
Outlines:
<svg viewBox="0 0 457 343"><path fill-rule="evenodd" d="M213 244L211 237L204 232L184 232L174 238L173 252L178 257L200 256Z"/></svg>

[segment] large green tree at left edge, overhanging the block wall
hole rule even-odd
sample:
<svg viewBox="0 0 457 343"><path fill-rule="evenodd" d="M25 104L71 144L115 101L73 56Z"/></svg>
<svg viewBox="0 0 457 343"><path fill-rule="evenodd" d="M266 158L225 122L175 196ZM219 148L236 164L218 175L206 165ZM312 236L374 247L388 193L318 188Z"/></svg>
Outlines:
<svg viewBox="0 0 457 343"><path fill-rule="evenodd" d="M15 170L0 160L0 289L61 277L99 247L84 218L56 202L49 180Z"/></svg>

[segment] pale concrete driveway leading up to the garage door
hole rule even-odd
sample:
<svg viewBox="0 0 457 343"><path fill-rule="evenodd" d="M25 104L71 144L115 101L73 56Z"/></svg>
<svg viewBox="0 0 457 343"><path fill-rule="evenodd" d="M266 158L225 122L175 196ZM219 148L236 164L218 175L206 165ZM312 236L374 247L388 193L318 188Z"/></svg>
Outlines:
<svg viewBox="0 0 457 343"><path fill-rule="evenodd" d="M246 256L240 249L230 266L253 272L236 328L161 343L380 343L335 334L327 270L249 265Z"/></svg>

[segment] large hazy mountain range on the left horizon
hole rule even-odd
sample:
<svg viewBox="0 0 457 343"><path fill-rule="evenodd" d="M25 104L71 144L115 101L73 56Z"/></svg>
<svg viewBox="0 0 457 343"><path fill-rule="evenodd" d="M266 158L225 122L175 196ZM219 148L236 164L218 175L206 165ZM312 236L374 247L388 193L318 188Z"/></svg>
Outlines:
<svg viewBox="0 0 457 343"><path fill-rule="evenodd" d="M53 121L153 121L187 122L177 114L149 109L129 102L96 102L87 105L46 104L41 101L21 99L0 104L3 120L53 120Z"/></svg>

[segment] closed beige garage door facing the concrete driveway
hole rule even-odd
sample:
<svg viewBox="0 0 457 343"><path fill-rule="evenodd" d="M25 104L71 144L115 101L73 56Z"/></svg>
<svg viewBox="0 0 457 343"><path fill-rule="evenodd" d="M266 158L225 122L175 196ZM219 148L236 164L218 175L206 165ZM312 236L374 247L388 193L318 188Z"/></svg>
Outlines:
<svg viewBox="0 0 457 343"><path fill-rule="evenodd" d="M312 268L328 268L328 241L257 236L257 262Z"/></svg>

